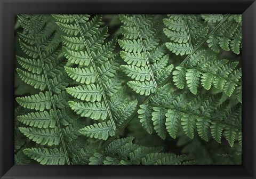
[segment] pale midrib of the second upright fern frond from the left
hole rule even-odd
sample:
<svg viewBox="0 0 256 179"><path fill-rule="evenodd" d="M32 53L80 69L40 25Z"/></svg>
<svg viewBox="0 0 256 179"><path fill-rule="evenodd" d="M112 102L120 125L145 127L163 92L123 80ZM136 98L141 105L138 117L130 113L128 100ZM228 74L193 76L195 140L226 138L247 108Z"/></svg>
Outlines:
<svg viewBox="0 0 256 179"><path fill-rule="evenodd" d="M95 66L95 64L94 64L94 61L93 61L93 58L92 58L92 54L91 54L90 48L89 48L89 46L88 46L87 43L86 43L86 40L85 40L85 38L84 38L83 31L82 31L81 27L79 26L79 23L78 23L78 21L77 21L75 15L73 15L73 18L74 18L74 20L75 20L75 22L76 22L77 28L78 28L78 30L79 30L81 36L82 36L82 39L83 39L83 42L84 42L86 51L88 52L89 57L90 57L90 60L91 60L91 63L92 63L93 70L95 71L95 75L96 75L96 77L97 77L97 79L98 79L99 86L100 86L100 90L101 90L101 93L102 93L102 96L103 96L103 101L104 101L104 103L105 103L105 107L106 107L106 109L107 109L107 112L108 112L108 115L109 115L109 118L110 118L111 125L112 125L112 127L114 128L114 130L116 130L115 121L114 121L114 119L113 119L113 117L112 117L112 114L111 114L111 112L110 112L110 109L109 109L109 106L108 106L108 102L107 102L107 97L106 97L105 92L104 92L104 90L103 90L104 88L103 88L103 86L102 86L101 79L100 79L100 76L99 76L99 74L98 74L97 68L96 68L96 66Z"/></svg>

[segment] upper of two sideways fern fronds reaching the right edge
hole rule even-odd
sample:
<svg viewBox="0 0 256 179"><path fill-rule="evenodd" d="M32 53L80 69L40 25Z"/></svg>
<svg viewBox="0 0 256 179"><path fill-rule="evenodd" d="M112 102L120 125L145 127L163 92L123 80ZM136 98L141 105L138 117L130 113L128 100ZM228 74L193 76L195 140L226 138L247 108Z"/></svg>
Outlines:
<svg viewBox="0 0 256 179"><path fill-rule="evenodd" d="M197 93L199 83L205 90L210 90L213 84L229 97L237 89L237 100L242 102L242 71L241 68L236 69L237 65L238 62L216 60L207 51L198 51L182 67L173 71L173 82L179 89L183 89L187 83L193 94Z"/></svg>

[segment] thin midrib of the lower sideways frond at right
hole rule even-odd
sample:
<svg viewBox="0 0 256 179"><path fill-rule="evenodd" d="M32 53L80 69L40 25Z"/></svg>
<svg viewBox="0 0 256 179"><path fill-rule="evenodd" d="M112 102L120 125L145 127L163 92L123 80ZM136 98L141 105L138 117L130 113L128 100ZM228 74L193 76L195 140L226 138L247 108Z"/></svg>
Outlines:
<svg viewBox="0 0 256 179"><path fill-rule="evenodd" d="M210 119L210 120L214 120L214 121L218 121L224 125L227 125L227 126L232 126L234 128L237 128L239 131L241 131L241 128L233 125L233 124L229 124L225 121L220 121L220 120L217 120L217 119L214 119L214 118L211 118L211 117L207 117L207 116L204 116L204 115L201 115L201 114L198 114L198 113L195 113L195 112L191 112L191 111L186 111L186 110L183 110L183 109L177 109L177 108L171 108L171 107L166 107L166 106L163 106L163 105L157 105L157 104L149 104L151 107L157 107L157 108L164 108L164 109L171 109L171 110L174 110L174 111L179 111L179 112L183 112L183 113L189 113L190 115L194 115L194 116L198 116L198 117L203 117L203 118L207 118L207 119Z"/></svg>

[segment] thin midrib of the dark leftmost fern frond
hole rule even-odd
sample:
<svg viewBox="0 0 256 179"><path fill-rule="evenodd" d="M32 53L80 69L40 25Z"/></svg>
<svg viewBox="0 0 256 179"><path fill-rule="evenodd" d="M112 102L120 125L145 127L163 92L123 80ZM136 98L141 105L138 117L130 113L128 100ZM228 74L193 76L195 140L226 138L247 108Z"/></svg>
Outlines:
<svg viewBox="0 0 256 179"><path fill-rule="evenodd" d="M70 165L70 161L69 161L69 158L68 158L68 152L67 152L67 149L66 149L64 137L63 137L62 132L61 132L60 121L59 121L59 117L58 117L58 114L57 114L57 110L56 110L56 107L55 107L55 102L54 102L52 91L51 91L51 85L49 83L49 79L47 77L47 72L46 72L46 69L45 69L45 66L44 66L43 56L42 56L39 44L37 42L37 38L36 38L34 29L33 29L33 32L34 32L34 38L35 38L35 41L36 41L37 50L38 50L38 53L39 53L39 56L40 56L40 61L42 63L42 67L43 67L43 71L44 71L44 77L45 77L46 84L47 84L47 87L48 87L48 90L49 90L49 93L50 93L50 97L51 97L51 101L52 101L52 105L53 105L54 116L55 116L56 121L57 121L58 131L59 131L59 134L60 134L60 140L61 140L61 143L62 143L62 147L63 147L64 153L65 153L65 158L67 160L67 164Z"/></svg>

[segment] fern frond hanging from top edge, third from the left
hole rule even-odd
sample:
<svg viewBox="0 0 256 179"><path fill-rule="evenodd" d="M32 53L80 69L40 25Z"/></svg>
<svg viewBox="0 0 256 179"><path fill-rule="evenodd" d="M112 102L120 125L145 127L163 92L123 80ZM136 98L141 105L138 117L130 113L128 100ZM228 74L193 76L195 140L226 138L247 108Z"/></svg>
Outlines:
<svg viewBox="0 0 256 179"><path fill-rule="evenodd" d="M159 46L157 22L150 15L120 15L121 31L126 39L118 40L122 59L127 63L121 69L134 81L127 82L133 91L141 95L154 93L157 84L171 73L167 66L168 55ZM159 46L159 47L158 47Z"/></svg>

